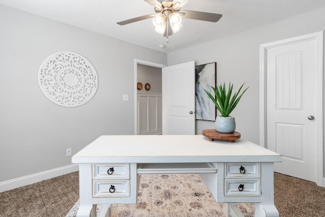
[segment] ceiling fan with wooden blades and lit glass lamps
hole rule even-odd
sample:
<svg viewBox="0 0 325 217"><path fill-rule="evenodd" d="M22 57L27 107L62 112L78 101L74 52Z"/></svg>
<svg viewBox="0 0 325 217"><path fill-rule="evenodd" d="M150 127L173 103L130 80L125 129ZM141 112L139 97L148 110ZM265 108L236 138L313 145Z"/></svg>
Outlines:
<svg viewBox="0 0 325 217"><path fill-rule="evenodd" d="M171 36L177 33L182 27L182 17L187 19L196 19L209 22L217 22L222 14L213 14L200 11L189 11L183 10L180 12L181 7L183 7L189 0L169 0L163 2L158 2L157 0L144 0L154 7L156 14L148 14L128 20L118 22L119 25L126 25L129 23L145 20L152 18L153 25L155 26L156 32L164 34L165 37ZM168 42L168 41L167 41Z"/></svg>

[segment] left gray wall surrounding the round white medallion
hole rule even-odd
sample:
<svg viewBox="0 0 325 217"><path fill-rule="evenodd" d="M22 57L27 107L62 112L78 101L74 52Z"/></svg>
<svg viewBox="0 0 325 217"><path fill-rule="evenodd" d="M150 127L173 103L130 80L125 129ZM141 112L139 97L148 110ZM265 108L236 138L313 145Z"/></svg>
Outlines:
<svg viewBox="0 0 325 217"><path fill-rule="evenodd" d="M71 164L100 135L134 134L134 59L167 65L167 54L0 5L0 182ZM86 57L95 96L67 108L49 101L37 74L52 53ZM128 94L129 101L122 101Z"/></svg>

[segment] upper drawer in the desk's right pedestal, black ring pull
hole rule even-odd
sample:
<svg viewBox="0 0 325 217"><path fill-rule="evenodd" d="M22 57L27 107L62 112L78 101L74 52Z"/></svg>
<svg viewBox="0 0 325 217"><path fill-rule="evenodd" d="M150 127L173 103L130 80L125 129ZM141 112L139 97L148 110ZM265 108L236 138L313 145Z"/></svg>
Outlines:
<svg viewBox="0 0 325 217"><path fill-rule="evenodd" d="M260 163L226 163L225 164L225 178L259 178Z"/></svg>

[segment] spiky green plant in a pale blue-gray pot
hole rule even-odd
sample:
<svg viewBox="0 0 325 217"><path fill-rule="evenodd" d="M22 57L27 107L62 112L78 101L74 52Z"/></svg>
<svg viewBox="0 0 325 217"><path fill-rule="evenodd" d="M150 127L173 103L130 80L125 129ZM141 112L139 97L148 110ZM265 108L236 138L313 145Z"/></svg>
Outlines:
<svg viewBox="0 0 325 217"><path fill-rule="evenodd" d="M212 102L214 103L217 110L220 112L220 116L217 116L215 119L215 129L220 133L233 133L236 129L235 117L230 116L231 112L236 108L240 98L243 96L244 92L248 89L248 87L239 95L240 90L244 86L245 83L241 85L238 92L235 92L234 96L232 96L233 84L229 82L228 91L225 88L225 84L220 84L220 86L216 86L212 89L214 91L215 98L204 89L207 95L210 97Z"/></svg>

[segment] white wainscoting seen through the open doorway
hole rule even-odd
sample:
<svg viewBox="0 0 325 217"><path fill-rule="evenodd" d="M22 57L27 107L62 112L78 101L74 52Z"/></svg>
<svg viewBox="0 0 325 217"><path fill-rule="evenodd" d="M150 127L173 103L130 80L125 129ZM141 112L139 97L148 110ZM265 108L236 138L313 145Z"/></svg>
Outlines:
<svg viewBox="0 0 325 217"><path fill-rule="evenodd" d="M163 103L161 94L138 94L138 135L163 132Z"/></svg>

